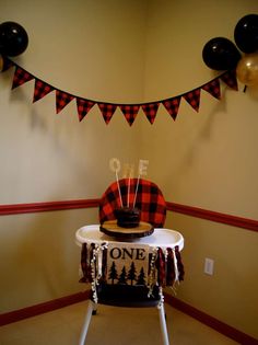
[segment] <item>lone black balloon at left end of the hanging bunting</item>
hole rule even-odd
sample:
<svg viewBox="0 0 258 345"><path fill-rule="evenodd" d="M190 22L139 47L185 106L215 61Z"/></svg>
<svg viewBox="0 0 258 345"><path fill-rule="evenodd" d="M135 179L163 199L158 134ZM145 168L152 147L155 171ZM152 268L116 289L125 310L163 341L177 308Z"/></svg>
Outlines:
<svg viewBox="0 0 258 345"><path fill-rule="evenodd" d="M28 36L22 25L14 22L0 24L0 54L5 56L17 56L28 45Z"/></svg>

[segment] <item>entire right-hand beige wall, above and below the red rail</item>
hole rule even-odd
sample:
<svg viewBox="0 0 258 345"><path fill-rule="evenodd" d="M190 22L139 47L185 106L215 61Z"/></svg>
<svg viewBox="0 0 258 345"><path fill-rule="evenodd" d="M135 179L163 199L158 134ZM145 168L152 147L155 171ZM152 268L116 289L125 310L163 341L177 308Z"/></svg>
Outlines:
<svg viewBox="0 0 258 345"><path fill-rule="evenodd" d="M202 62L204 44L218 36L234 42L237 21L257 12L257 1L151 1L145 100L218 76ZM202 91L199 113L181 100L175 123L160 107L155 125L142 126L141 148L151 152L150 174L167 200L258 219L258 89L221 85L222 101ZM167 227L185 237L186 279L177 297L258 337L257 233L177 214ZM214 260L213 276L203 273L206 257Z"/></svg>

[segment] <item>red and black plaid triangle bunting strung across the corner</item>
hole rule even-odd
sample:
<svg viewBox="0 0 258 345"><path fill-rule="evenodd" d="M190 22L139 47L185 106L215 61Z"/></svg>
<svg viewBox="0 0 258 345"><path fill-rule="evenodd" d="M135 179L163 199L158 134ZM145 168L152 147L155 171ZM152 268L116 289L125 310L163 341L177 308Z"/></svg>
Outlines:
<svg viewBox="0 0 258 345"><path fill-rule="evenodd" d="M56 90L56 113L60 113L64 106L70 103L75 96L71 95L67 92L60 91L55 89L54 87L49 85L48 83L35 78L33 74L17 66L15 62L11 61L9 58L3 57L2 62L2 72L8 70L11 67L15 67L15 72L13 76L12 82L12 90L26 83L30 80L35 79L35 88L34 88L34 95L33 102L36 102L43 99L45 95L50 93L51 91ZM143 113L145 114L148 120L153 124L159 111L160 103L162 103L172 118L175 120L179 111L180 100L184 97L195 111L199 111L200 106L200 93L201 90L207 91L215 99L221 99L221 90L220 90L220 80L222 80L227 87L233 90L238 90L237 85L237 78L236 71L226 71L223 74L219 76L218 78L209 81L208 83L191 90L187 93L180 94L175 97L162 100L159 102L153 103L145 103L145 104L114 104L114 103L106 103L106 102L94 102L89 101L86 99L79 99L77 97L77 106L78 106L78 115L80 122L85 117L85 115L91 111L95 103L97 103L99 111L102 112L103 118L105 123L108 125L114 113L116 112L117 107L119 106L126 120L131 126L138 115L139 108L141 107Z"/></svg>

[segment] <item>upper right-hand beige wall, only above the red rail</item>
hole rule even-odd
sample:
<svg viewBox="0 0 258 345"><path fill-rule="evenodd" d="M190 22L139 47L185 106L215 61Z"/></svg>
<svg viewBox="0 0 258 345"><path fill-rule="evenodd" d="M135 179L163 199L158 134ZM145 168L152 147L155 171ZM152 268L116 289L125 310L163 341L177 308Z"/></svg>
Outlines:
<svg viewBox="0 0 258 345"><path fill-rule="evenodd" d="M256 1L151 3L146 100L190 91L220 74L202 61L204 44L216 36L234 42L237 21L258 11ZM221 85L222 101L201 92L199 113L181 100L175 123L161 106L155 126L142 130L143 151L153 153L151 173L167 199L257 218L258 93Z"/></svg>

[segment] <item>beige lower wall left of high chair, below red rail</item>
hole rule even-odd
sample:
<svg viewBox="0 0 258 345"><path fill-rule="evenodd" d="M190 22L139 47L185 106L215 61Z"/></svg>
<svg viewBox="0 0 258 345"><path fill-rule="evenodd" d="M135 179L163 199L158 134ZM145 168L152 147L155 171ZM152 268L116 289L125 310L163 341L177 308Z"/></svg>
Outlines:
<svg viewBox="0 0 258 345"><path fill-rule="evenodd" d="M84 289L74 231L96 219L96 209L1 217L1 312Z"/></svg>

